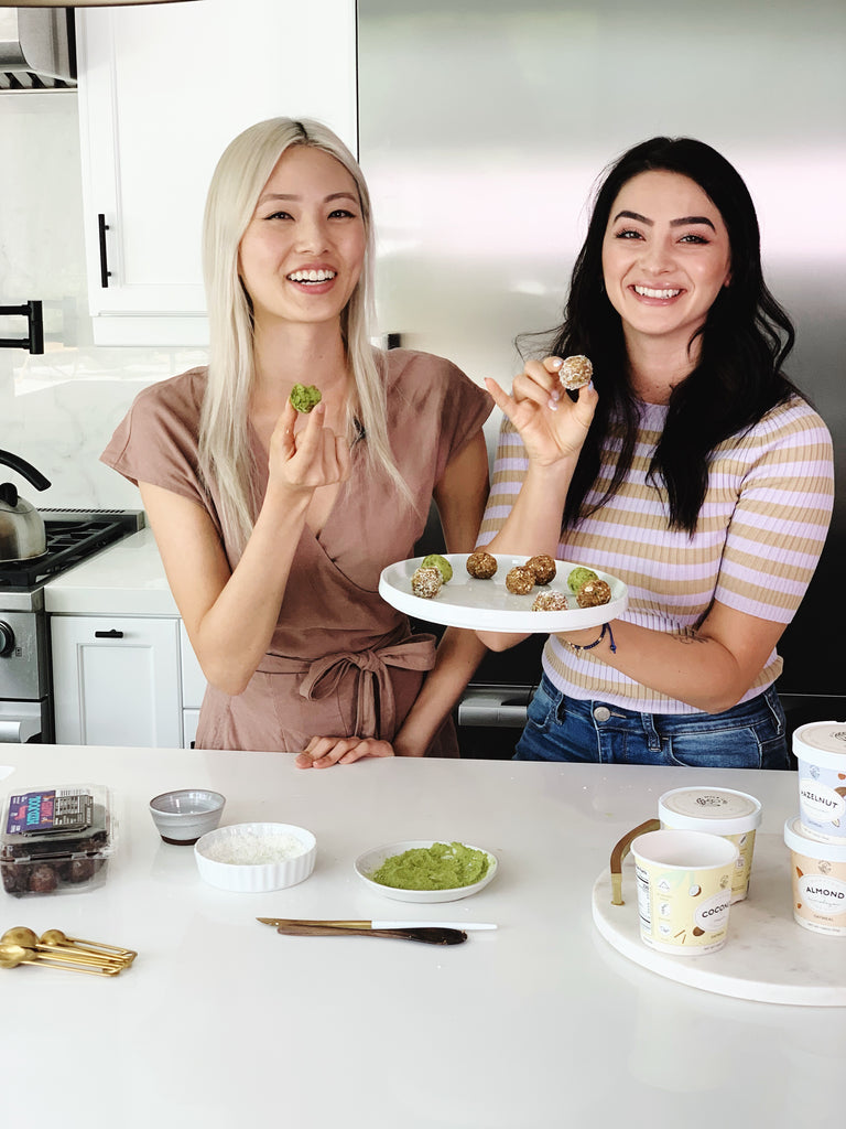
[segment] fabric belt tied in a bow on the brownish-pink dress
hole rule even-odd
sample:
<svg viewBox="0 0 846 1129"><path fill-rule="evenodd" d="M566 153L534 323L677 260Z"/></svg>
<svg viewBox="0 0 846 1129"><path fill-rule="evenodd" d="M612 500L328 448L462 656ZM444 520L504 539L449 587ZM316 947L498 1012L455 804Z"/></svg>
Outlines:
<svg viewBox="0 0 846 1129"><path fill-rule="evenodd" d="M390 734L387 739L391 739L395 734L396 709L389 666L400 671L431 671L434 666L434 637L409 636L388 647L358 654L338 651L316 658L306 666L300 694L309 701L327 698L349 671L358 668L355 734L360 737L376 737L381 728L382 733Z"/></svg>

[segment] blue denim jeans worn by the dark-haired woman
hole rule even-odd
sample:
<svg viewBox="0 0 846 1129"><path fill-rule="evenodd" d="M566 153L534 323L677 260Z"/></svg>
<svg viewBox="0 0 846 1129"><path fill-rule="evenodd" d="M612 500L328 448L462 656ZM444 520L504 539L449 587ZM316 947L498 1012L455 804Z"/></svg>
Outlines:
<svg viewBox="0 0 846 1129"><path fill-rule="evenodd" d="M774 686L722 714L638 714L567 698L544 675L515 761L787 769L787 726Z"/></svg>

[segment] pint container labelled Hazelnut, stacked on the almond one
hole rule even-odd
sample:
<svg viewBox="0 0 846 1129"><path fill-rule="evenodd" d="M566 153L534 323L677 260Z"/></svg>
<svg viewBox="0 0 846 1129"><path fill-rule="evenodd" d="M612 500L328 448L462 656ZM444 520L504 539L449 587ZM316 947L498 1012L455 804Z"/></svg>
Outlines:
<svg viewBox="0 0 846 1129"><path fill-rule="evenodd" d="M846 721L811 721L793 734L802 830L846 844Z"/></svg>

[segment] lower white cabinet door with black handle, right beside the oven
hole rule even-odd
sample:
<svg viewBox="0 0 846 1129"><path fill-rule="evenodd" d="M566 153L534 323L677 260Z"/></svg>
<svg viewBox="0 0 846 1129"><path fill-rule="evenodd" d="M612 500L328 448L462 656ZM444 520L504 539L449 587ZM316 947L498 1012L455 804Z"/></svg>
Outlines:
<svg viewBox="0 0 846 1129"><path fill-rule="evenodd" d="M182 745L175 619L53 615L56 742Z"/></svg>

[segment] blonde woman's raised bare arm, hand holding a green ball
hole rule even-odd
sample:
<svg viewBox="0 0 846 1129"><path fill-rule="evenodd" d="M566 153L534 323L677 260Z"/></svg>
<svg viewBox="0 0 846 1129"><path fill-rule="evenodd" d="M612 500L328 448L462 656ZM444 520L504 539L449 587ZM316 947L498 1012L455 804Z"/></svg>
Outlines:
<svg viewBox="0 0 846 1129"><path fill-rule="evenodd" d="M240 693L273 636L311 497L350 472L346 444L323 425L320 405L293 435L293 409L271 438L262 509L237 567L230 570L211 518L161 487L139 483L170 590L209 682Z"/></svg>

